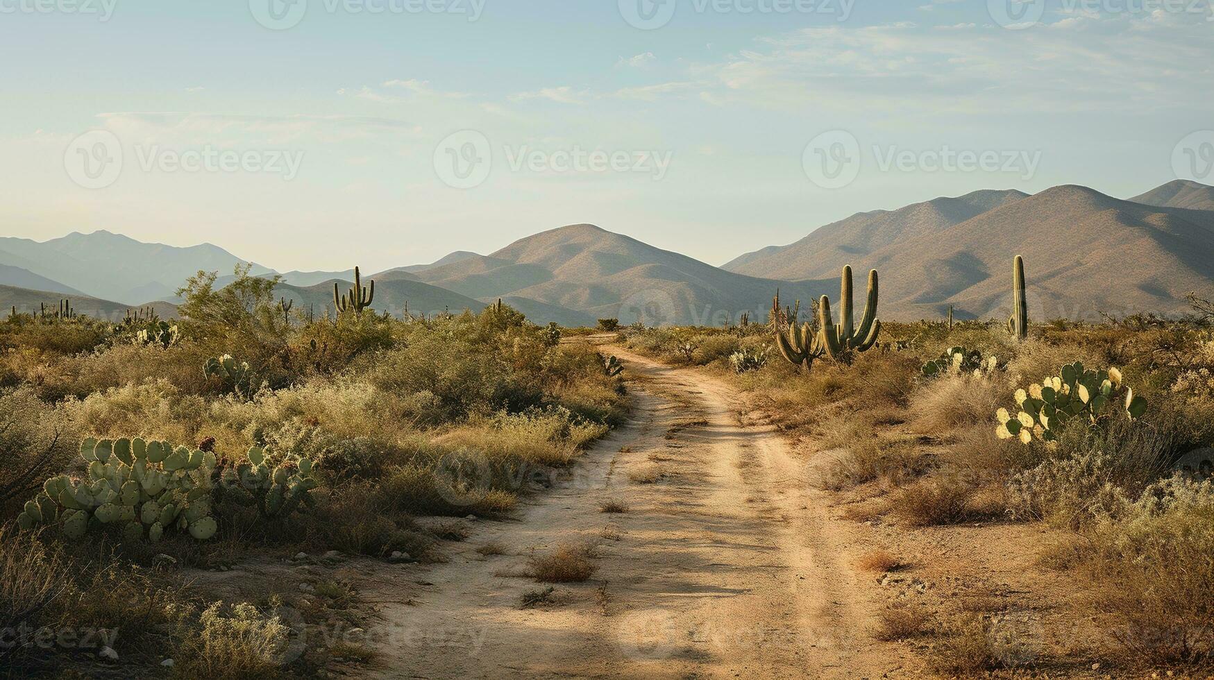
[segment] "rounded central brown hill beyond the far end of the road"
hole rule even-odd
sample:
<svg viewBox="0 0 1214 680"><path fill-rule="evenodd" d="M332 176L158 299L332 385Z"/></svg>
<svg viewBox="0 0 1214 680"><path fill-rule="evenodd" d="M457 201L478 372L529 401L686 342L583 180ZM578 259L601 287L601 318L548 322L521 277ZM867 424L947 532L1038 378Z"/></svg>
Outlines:
<svg viewBox="0 0 1214 680"><path fill-rule="evenodd" d="M623 323L643 317L647 323L721 324L744 311L759 321L777 288L805 300L823 290L813 282L726 272L592 225L543 232L418 276L464 295L526 298Z"/></svg>

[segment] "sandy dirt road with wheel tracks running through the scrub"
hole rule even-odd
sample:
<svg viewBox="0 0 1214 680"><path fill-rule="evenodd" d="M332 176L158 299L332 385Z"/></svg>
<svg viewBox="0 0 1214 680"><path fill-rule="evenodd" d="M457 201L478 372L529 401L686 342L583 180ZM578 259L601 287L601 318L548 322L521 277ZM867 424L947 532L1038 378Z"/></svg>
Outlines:
<svg viewBox="0 0 1214 680"><path fill-rule="evenodd" d="M866 634L879 601L806 461L738 397L694 369L620 347L631 421L517 521L470 522L449 562L403 568L387 604L381 678L885 678L906 659ZM626 512L600 509L618 501ZM528 557L596 543L597 572L546 585ZM481 555L497 544L505 555ZM492 550L489 550L492 552Z"/></svg>

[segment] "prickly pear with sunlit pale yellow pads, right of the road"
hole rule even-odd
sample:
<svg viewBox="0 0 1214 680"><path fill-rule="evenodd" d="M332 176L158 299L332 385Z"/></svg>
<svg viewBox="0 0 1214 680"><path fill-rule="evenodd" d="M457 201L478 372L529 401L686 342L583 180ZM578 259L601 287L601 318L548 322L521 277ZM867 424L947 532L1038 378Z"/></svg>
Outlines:
<svg viewBox="0 0 1214 680"><path fill-rule="evenodd" d="M1134 420L1146 412L1146 399L1122 381L1122 372L1085 369L1068 363L1057 375L1046 376L1026 390L1016 390L1019 412L1000 408L995 414L999 438L1054 442L1062 425L1082 418L1096 425L1119 412Z"/></svg>

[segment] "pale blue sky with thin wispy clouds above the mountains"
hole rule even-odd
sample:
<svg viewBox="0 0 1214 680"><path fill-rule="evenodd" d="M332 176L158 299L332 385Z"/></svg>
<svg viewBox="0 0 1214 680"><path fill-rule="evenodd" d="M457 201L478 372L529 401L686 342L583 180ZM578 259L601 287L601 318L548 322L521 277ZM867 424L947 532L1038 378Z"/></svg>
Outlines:
<svg viewBox="0 0 1214 680"><path fill-rule="evenodd" d="M1214 185L1212 56L1208 0L0 0L0 233L379 271L590 222L720 265Z"/></svg>

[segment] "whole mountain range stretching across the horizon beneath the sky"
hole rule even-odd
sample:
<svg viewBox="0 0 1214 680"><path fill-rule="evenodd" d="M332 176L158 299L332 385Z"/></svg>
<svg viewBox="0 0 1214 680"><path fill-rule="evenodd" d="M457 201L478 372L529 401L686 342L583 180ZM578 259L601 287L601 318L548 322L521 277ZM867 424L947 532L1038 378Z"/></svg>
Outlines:
<svg viewBox="0 0 1214 680"><path fill-rule="evenodd" d="M736 323L764 318L772 294L809 301L838 295L839 271L881 274L881 316L1004 316L1011 260L1021 254L1036 318L1097 318L1101 312L1180 312L1184 294L1214 287L1214 187L1178 180L1130 199L1066 185L1026 194L976 191L896 210L860 212L714 267L594 225L520 239L488 255L460 250L426 265L364 276L379 311L399 314L480 308L497 299L535 322ZM229 280L249 264L211 244L176 248L98 231L47 242L0 238L0 301L36 308L70 296L78 312L113 313L147 301L176 302L198 271ZM324 313L333 285L353 271L283 274L279 296ZM114 300L110 302L109 300Z"/></svg>

